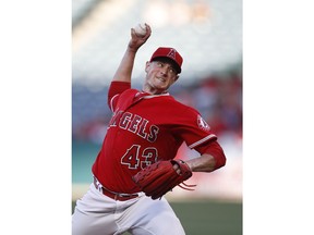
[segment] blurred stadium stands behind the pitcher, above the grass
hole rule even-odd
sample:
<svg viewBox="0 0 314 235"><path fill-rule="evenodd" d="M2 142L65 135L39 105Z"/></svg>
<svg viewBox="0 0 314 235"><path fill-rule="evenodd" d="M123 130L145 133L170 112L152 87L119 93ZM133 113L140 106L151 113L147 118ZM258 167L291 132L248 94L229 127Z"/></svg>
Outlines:
<svg viewBox="0 0 314 235"><path fill-rule="evenodd" d="M227 165L217 172L194 174L190 182L197 184L195 191L179 188L167 198L179 218L191 212L189 221L201 212L182 212L186 207L178 206L182 201L208 201L208 214L214 213L210 205L215 201L220 203L215 213L222 210L222 205L235 205L233 213L227 209L218 217L232 214L229 222L237 224L235 228L224 230L220 221L220 232L216 230L214 234L241 234L241 0L72 0L72 200L80 198L92 181L90 166L111 116L108 86L130 39L130 28L141 22L148 23L153 34L137 52L133 86L141 88L145 62L157 47L177 48L184 61L182 74L170 92L202 113L228 158ZM197 153L183 145L177 157L188 156L193 158Z"/></svg>

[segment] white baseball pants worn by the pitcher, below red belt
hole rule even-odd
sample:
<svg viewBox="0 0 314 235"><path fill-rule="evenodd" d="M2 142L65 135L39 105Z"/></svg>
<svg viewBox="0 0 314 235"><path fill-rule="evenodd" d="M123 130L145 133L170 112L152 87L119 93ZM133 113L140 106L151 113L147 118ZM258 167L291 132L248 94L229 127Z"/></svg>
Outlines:
<svg viewBox="0 0 314 235"><path fill-rule="evenodd" d="M72 235L185 235L168 201L153 200L143 193L125 201L102 195L90 184L76 201L72 214Z"/></svg>

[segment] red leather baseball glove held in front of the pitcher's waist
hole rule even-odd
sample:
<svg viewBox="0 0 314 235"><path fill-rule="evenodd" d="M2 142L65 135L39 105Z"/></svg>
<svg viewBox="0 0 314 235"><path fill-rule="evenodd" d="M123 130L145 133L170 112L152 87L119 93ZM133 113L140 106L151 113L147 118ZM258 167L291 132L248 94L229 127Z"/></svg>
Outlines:
<svg viewBox="0 0 314 235"><path fill-rule="evenodd" d="M177 166L176 166L177 165ZM186 190L194 190L183 182L192 176L189 165L182 160L158 161L140 171L133 181L152 199L161 197L179 185ZM184 186L180 185L183 184Z"/></svg>

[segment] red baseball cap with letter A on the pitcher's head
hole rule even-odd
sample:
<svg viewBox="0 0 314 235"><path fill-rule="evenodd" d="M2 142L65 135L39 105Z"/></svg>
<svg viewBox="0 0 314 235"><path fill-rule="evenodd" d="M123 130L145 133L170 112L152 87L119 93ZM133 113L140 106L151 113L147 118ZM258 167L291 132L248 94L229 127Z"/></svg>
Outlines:
<svg viewBox="0 0 314 235"><path fill-rule="evenodd" d="M155 61L158 58L168 58L174 62L178 73L181 73L181 65L183 58L174 48L159 47L152 55L150 61Z"/></svg>

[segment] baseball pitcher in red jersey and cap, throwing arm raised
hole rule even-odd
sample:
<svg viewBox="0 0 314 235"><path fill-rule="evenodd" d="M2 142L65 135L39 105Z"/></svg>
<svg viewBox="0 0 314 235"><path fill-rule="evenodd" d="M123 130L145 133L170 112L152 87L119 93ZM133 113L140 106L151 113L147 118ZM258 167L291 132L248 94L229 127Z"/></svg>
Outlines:
<svg viewBox="0 0 314 235"><path fill-rule="evenodd" d="M194 108L178 102L168 89L178 79L183 58L173 48L159 47L145 64L142 90L131 88L137 50L152 28L131 39L108 91L112 118L93 164L93 183L76 201L74 235L183 235L184 230L164 195L193 172L213 172L226 164L222 148ZM185 141L198 158L174 159Z"/></svg>

